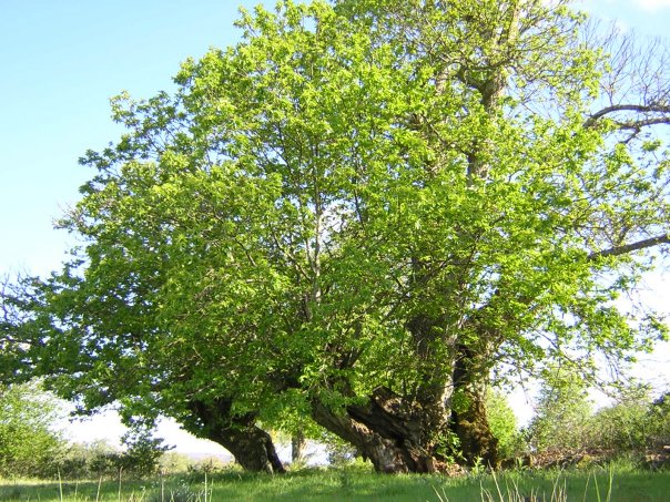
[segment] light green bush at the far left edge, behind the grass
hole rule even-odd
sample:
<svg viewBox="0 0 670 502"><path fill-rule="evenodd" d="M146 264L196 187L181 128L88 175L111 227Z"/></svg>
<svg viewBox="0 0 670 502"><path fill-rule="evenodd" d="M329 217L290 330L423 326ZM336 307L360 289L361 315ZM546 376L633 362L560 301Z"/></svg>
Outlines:
<svg viewBox="0 0 670 502"><path fill-rule="evenodd" d="M67 443L54 423L59 402L37 383L0 388L0 475L49 477Z"/></svg>

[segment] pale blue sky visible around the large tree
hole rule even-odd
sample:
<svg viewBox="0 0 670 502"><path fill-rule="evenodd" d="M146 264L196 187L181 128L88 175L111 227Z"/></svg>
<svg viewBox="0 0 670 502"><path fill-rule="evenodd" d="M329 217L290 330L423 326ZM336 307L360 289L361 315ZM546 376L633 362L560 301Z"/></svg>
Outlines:
<svg viewBox="0 0 670 502"><path fill-rule="evenodd" d="M256 3L0 0L0 275L47 274L62 262L72 240L52 222L93 174L77 160L121 132L109 119L109 99L123 90L135 98L171 90L180 62L234 43L237 7ZM623 29L670 37L670 0L586 0L582 7ZM670 305L670 286L660 276L650 285L649 298ZM163 433L181 450L205 449L175 429ZM109 419L72 428L85 440L116 433Z"/></svg>

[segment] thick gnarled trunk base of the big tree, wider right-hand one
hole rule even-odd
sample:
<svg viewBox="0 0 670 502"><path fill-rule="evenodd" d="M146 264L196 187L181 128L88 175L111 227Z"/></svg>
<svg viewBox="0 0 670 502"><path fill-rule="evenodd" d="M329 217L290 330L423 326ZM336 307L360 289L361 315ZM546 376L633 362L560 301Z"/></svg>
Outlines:
<svg viewBox="0 0 670 502"><path fill-rule="evenodd" d="M313 402L313 418L369 459L378 472L435 472L445 460L439 448L441 439L456 434L458 453L464 463L484 461L499 464L498 441L493 436L486 412L486 367L484 354L458 344L457 339L439 339L437 321L416 316L408 322L416 357L419 381L412 396L398 396L387 388L377 388L366 404L349 404L336 412ZM446 347L445 347L446 345ZM437 347L445 349L437 355ZM439 357L438 357L439 356ZM339 386L346 388L347 386ZM353 392L345 392L354 397Z"/></svg>

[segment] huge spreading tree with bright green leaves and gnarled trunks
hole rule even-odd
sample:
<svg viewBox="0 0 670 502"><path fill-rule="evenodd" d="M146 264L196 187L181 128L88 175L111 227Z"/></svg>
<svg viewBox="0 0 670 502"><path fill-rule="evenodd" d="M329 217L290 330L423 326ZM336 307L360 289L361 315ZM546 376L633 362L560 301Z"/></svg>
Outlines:
<svg viewBox="0 0 670 502"><path fill-rule="evenodd" d="M282 470L260 424L297 414L425 472L496 464L491 379L596 377L664 334L615 304L670 240L662 48L541 0L238 25L172 95L114 101L128 133L62 221L82 246L4 295L14 376L175 417L252 470Z"/></svg>

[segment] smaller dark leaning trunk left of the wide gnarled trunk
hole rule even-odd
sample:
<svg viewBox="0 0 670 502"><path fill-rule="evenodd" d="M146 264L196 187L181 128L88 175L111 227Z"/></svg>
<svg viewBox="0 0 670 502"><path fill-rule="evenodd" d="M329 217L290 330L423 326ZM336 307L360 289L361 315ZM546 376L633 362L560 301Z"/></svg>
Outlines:
<svg viewBox="0 0 670 502"><path fill-rule="evenodd" d="M197 421L186 423L196 436L204 437L229 450L237 463L252 472L283 473L284 467L272 438L255 424L255 414L231 414L231 399L214 402L191 401Z"/></svg>

